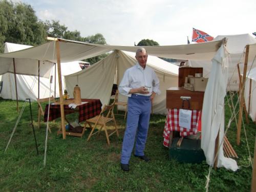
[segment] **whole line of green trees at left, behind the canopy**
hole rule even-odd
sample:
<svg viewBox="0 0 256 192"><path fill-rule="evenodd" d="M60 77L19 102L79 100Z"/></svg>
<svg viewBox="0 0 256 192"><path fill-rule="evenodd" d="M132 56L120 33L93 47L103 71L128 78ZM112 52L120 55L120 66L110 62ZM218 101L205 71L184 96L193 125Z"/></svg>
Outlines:
<svg viewBox="0 0 256 192"><path fill-rule="evenodd" d="M82 37L79 31L68 30L68 27L61 25L58 20L42 22L28 4L0 0L0 52L4 51L5 42L36 46L45 42L47 36L91 44L106 44L105 38L100 33ZM107 54L89 58L87 61L93 64L105 56Z"/></svg>

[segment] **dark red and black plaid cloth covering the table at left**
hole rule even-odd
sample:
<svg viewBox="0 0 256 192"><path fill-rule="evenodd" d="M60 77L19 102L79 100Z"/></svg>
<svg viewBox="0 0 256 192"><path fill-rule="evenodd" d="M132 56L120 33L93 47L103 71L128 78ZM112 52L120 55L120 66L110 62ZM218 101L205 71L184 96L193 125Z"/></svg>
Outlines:
<svg viewBox="0 0 256 192"><path fill-rule="evenodd" d="M79 111L79 119L78 121L85 121L86 119L90 119L99 115L101 112L101 102L99 99L82 99L82 102L87 102L84 104L77 105L76 110ZM72 110L69 108L69 105L64 105L65 115L75 113L76 110ZM47 121L48 116L48 104L46 105L45 109L45 116L44 120ZM60 105L59 104L51 104L50 111L49 111L49 121L60 117Z"/></svg>

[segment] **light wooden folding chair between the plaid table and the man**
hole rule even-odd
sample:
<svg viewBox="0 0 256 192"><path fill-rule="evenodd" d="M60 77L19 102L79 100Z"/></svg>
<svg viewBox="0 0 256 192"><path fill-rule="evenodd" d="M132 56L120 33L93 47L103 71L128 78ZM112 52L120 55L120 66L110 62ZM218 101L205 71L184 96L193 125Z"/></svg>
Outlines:
<svg viewBox="0 0 256 192"><path fill-rule="evenodd" d="M86 120L86 122L84 124L84 127L86 127L86 124L88 123L90 128L92 129L87 141L90 140L92 135L94 135L96 133L99 134L101 132L102 128L105 131L106 141L108 142L109 145L110 145L109 137L111 135L116 133L117 137L119 137L119 133L118 133L118 130L117 130L117 125L116 125L116 120L115 120L115 116L114 116L114 113L113 113L113 109L114 109L114 103L112 103L111 105L104 105L103 109L101 110L99 115L97 115L96 117L93 117L91 119ZM106 115L104 116L104 114L106 114ZM108 130L106 129L106 123L108 123L110 121L114 121L114 124L115 124L115 130L111 134L109 134ZM92 125L92 123L94 125ZM97 132L93 133L94 130L95 130L95 127L97 125L100 125L100 129Z"/></svg>

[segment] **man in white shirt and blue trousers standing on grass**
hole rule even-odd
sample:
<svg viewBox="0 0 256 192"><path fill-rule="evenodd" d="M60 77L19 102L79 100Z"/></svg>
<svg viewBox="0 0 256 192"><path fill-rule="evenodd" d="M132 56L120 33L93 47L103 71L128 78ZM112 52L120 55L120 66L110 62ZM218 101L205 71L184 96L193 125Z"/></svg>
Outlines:
<svg viewBox="0 0 256 192"><path fill-rule="evenodd" d="M125 71L119 84L119 93L128 96L127 122L121 154L121 168L125 171L129 170L129 160L135 139L134 156L146 162L150 161L150 158L144 155L144 148L150 123L152 100L156 94L160 94L159 79L154 70L146 66L146 50L139 48L135 58L138 62Z"/></svg>

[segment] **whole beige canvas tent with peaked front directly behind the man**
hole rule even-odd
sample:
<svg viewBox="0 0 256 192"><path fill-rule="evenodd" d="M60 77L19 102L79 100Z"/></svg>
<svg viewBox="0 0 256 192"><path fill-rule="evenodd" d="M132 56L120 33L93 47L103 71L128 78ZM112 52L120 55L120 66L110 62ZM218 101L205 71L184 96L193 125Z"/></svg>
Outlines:
<svg viewBox="0 0 256 192"><path fill-rule="evenodd" d="M135 53L116 50L88 70L65 76L67 90L73 92L78 84L82 98L99 98L103 105L108 104L115 75L119 84L124 71L135 63ZM166 89L178 86L179 67L151 55L147 58L147 65L155 70L161 84L161 95L154 100L153 113L166 114ZM127 101L125 96L119 95L118 98L120 101Z"/></svg>

